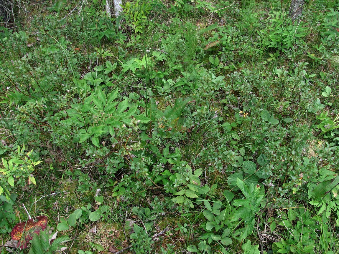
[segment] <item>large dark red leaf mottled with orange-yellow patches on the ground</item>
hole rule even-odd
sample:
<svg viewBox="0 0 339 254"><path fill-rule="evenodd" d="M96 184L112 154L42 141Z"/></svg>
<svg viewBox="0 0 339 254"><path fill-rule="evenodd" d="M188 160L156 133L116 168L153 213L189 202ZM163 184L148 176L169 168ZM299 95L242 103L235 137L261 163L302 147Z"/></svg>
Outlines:
<svg viewBox="0 0 339 254"><path fill-rule="evenodd" d="M18 248L21 249L27 248L27 244L30 240L33 239L34 233L39 234L40 231L44 231L47 227L48 218L46 216L38 216L34 219L29 219L27 221L23 221L14 226L11 232L11 236L13 240L18 241ZM24 240L21 240L22 238Z"/></svg>

